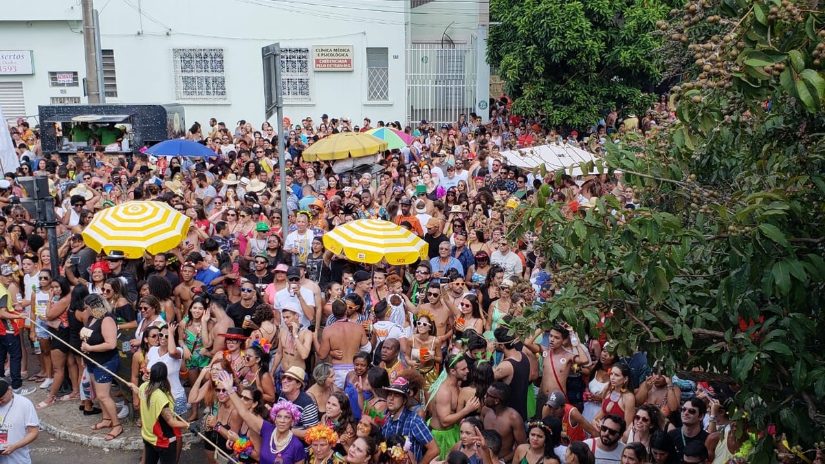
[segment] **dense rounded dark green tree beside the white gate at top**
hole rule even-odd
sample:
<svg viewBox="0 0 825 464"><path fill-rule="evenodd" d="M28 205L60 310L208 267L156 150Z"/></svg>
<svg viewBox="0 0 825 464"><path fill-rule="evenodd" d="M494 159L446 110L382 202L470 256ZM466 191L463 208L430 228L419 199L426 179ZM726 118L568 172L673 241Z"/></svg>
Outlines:
<svg viewBox="0 0 825 464"><path fill-rule="evenodd" d="M493 0L488 60L517 113L585 127L610 107L640 111L658 82L654 34L667 0Z"/></svg>

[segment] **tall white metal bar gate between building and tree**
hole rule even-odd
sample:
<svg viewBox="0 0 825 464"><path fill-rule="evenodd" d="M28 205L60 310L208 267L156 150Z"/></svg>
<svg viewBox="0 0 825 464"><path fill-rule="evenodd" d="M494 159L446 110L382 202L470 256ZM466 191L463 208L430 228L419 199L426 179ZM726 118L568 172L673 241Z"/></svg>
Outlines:
<svg viewBox="0 0 825 464"><path fill-rule="evenodd" d="M473 111L476 95L476 50L473 45L444 48L413 44L407 50L407 119L451 124Z"/></svg>

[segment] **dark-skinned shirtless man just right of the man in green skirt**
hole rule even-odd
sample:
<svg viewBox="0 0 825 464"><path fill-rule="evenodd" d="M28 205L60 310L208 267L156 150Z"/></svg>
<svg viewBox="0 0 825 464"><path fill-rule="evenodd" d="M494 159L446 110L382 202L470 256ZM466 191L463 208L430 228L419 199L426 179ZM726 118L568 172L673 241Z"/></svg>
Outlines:
<svg viewBox="0 0 825 464"><path fill-rule="evenodd" d="M484 395L484 407L481 419L485 429L493 429L502 436L502 450L499 457L502 462L510 462L516 447L527 442L524 420L518 411L507 407L510 386L502 381L494 381Z"/></svg>

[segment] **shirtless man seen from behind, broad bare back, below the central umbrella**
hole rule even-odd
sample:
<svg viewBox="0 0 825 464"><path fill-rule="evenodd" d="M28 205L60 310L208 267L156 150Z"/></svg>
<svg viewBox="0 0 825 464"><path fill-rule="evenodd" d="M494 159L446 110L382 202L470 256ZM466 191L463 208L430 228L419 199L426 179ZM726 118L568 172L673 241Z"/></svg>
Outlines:
<svg viewBox="0 0 825 464"><path fill-rule="evenodd" d="M313 334L315 352L321 359L330 357L332 371L335 372L335 386L344 389L347 373L355 366L351 362L359 351L372 351L372 344L366 338L364 327L347 320L347 304L342 300L332 301L332 315L337 321L323 329L323 339L318 341L318 330ZM347 360L347 361L345 361Z"/></svg>

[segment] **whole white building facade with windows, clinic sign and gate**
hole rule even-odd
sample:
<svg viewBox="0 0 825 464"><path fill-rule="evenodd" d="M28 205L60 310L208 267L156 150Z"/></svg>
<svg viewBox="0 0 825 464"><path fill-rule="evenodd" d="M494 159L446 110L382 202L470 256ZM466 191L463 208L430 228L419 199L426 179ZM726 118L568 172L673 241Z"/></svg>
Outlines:
<svg viewBox="0 0 825 464"><path fill-rule="evenodd" d="M87 103L80 2L37 3L0 16L0 105L7 118L32 125L40 105ZM355 124L455 121L479 103L478 8L458 12L462 33L450 43L433 38L456 21L446 0L97 0L95 7L106 103L181 103L188 124L215 117L260 125L262 47L276 42L284 112L294 123L306 116L317 123L324 113ZM438 90L422 96L431 86Z"/></svg>

